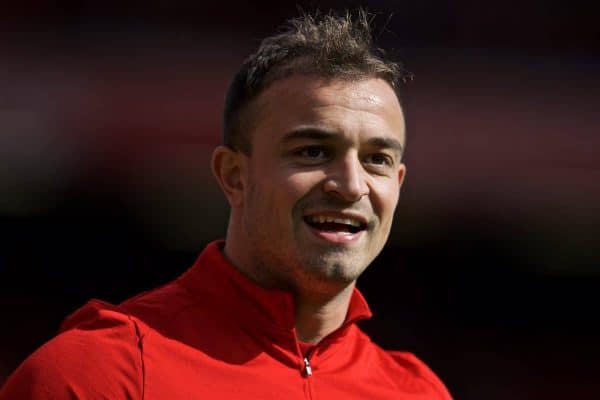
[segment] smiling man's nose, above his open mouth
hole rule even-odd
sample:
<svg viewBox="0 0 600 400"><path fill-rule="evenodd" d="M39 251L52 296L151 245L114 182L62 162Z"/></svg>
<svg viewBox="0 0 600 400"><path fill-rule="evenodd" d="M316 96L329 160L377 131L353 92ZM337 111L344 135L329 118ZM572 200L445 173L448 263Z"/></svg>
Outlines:
<svg viewBox="0 0 600 400"><path fill-rule="evenodd" d="M366 171L356 155L347 155L331 166L323 185L325 193L356 202L369 194Z"/></svg>

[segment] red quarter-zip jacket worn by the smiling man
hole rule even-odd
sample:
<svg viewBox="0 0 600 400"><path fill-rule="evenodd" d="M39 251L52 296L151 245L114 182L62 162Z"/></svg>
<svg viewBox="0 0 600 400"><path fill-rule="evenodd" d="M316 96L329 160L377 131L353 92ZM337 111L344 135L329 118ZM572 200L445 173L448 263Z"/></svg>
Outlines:
<svg viewBox="0 0 600 400"><path fill-rule="evenodd" d="M213 242L186 273L113 306L92 300L9 378L12 399L450 399L410 353L386 352L356 321L310 353L307 374L292 296L256 286Z"/></svg>

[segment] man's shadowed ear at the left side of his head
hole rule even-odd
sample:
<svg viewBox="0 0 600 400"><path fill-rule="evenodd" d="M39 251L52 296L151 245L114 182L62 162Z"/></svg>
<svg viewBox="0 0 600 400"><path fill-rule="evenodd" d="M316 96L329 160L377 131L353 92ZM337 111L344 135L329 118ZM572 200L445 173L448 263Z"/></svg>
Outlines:
<svg viewBox="0 0 600 400"><path fill-rule="evenodd" d="M244 155L226 146L218 146L211 159L211 169L232 208L239 208L244 199Z"/></svg>

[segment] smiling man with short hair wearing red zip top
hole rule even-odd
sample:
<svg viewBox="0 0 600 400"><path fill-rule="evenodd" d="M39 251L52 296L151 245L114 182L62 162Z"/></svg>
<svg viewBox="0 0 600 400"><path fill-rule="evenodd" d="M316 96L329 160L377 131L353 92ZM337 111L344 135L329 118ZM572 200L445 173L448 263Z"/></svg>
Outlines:
<svg viewBox="0 0 600 400"><path fill-rule="evenodd" d="M229 88L212 171L231 213L176 281L92 300L9 378L4 399L449 399L373 344L355 288L383 248L406 168L404 76L368 18L304 16Z"/></svg>

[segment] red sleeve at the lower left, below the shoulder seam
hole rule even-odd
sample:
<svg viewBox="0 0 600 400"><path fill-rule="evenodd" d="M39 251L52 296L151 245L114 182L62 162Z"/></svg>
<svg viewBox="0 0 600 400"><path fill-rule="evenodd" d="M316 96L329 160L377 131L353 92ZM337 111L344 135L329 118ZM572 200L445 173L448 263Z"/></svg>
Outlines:
<svg viewBox="0 0 600 400"><path fill-rule="evenodd" d="M92 312L98 317L93 322L59 334L29 356L0 389L0 400L141 399L137 324L113 311Z"/></svg>

